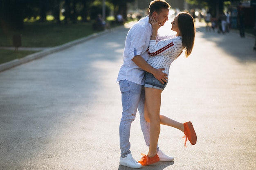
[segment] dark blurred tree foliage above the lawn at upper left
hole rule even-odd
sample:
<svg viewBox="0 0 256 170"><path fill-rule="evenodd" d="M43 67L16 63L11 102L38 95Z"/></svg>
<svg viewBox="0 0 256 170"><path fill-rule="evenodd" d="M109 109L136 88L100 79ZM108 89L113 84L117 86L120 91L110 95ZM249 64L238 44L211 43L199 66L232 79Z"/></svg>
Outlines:
<svg viewBox="0 0 256 170"><path fill-rule="evenodd" d="M95 1L100 5L93 5ZM134 0L106 0L106 4L112 4L114 13L126 16L126 2ZM0 27L4 29L18 30L23 28L25 18L40 17L40 22L45 22L48 14L54 16L60 23L60 14L65 16L65 23L76 22L81 16L83 22L88 21L95 13L102 12L102 0L0 0ZM110 7L106 6L107 14Z"/></svg>

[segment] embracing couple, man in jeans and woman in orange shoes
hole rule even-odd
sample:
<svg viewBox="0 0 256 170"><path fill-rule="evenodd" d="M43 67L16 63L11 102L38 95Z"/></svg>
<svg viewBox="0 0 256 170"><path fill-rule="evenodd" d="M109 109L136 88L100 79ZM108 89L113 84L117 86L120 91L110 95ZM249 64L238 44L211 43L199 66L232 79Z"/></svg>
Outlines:
<svg viewBox="0 0 256 170"><path fill-rule="evenodd" d="M160 124L177 128L184 132L185 146L192 145L197 137L192 123L180 123L160 115L161 93L168 83L171 63L184 49L185 57L191 54L195 39L195 25L189 13L178 13L171 22L173 36L160 37L157 30L168 21L170 5L164 0L153 0L149 5L149 15L134 24L126 36L124 63L120 68L117 82L122 100L122 117L119 126L121 157L119 164L130 168L141 168L158 161L173 161L157 145ZM141 160L133 159L130 151L130 127L135 120L137 109L141 130L148 154Z"/></svg>

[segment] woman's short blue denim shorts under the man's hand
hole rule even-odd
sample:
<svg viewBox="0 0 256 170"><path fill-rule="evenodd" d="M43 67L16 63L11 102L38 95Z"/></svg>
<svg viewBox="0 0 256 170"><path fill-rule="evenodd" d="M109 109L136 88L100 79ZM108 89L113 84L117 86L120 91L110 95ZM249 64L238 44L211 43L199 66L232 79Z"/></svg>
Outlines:
<svg viewBox="0 0 256 170"><path fill-rule="evenodd" d="M168 80L167 80L167 82L164 82L164 84L162 84L158 79L156 79L154 77L153 74L148 73L148 72L145 71L145 87L157 88L159 90L164 90L167 83L168 83Z"/></svg>

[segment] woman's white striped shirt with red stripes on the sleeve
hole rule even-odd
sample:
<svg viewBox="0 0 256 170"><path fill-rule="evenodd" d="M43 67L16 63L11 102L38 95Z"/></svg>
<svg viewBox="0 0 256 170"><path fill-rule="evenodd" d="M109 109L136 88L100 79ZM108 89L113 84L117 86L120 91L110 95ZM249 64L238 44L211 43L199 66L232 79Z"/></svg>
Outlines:
<svg viewBox="0 0 256 170"><path fill-rule="evenodd" d="M151 56L147 62L154 68L165 68L163 72L169 74L171 63L179 56L182 50L181 36L173 35L157 43L156 40L150 40L148 54Z"/></svg>

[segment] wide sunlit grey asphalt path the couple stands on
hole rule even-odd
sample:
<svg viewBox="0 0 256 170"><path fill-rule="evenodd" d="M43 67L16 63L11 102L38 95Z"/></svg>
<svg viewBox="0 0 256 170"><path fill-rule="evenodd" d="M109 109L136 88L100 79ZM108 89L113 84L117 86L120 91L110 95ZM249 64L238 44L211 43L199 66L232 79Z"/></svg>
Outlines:
<svg viewBox="0 0 256 170"><path fill-rule="evenodd" d="M127 32L114 29L0 73L0 170L131 169L119 166L116 83ZM191 56L171 66L161 107L177 121L192 121L197 144L185 148L182 132L161 126L160 149L175 160L142 169L255 169L254 41L198 27ZM147 153L139 114L130 142L135 159Z"/></svg>

